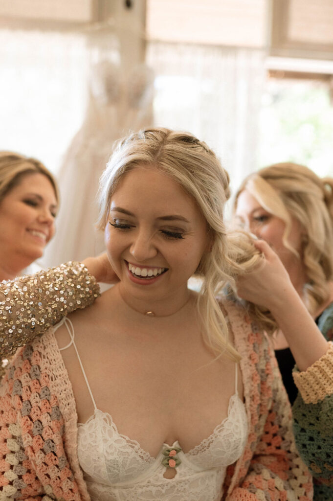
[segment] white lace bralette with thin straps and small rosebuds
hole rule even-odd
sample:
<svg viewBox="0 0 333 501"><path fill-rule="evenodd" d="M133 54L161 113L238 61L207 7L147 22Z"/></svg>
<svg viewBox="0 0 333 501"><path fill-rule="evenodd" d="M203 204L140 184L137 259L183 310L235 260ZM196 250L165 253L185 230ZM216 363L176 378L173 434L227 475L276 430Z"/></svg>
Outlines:
<svg viewBox="0 0 333 501"><path fill-rule="evenodd" d="M73 325L68 319L65 324L95 407L88 421L78 424L78 458L92 501L220 501L226 468L241 456L247 439L237 366L236 392L222 423L190 451L184 453L178 441L164 443L155 458L136 440L118 433L111 415L97 408L74 343ZM175 468L173 478L163 476L166 467Z"/></svg>

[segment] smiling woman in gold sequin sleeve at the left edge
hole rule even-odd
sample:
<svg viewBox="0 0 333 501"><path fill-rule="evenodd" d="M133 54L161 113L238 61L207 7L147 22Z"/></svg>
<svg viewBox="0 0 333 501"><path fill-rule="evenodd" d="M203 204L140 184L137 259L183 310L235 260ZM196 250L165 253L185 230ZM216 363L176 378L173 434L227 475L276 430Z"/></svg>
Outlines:
<svg viewBox="0 0 333 501"><path fill-rule="evenodd" d="M0 152L0 282L6 281L0 284L1 358L59 321L65 311L87 306L98 295L95 279L79 263L61 266L51 274L41 271L21 277L42 257L53 237L58 204L57 182L42 162ZM105 257L89 258L86 264L108 279ZM50 299L49 305L44 304L45 298Z"/></svg>

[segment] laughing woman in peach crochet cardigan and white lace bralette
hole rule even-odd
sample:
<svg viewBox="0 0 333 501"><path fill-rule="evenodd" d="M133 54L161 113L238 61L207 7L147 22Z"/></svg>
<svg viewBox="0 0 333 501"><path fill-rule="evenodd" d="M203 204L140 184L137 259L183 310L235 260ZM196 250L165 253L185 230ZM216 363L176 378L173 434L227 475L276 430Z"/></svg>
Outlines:
<svg viewBox="0 0 333 501"><path fill-rule="evenodd" d="M3 495L309 501L262 332L272 321L251 323L221 294L262 258L246 234L226 233L229 178L215 154L189 133L134 133L116 145L99 197L119 282L9 365L0 386ZM195 273L199 293L187 286ZM44 275L46 321L53 304L94 294L84 277L55 284ZM300 300L293 307L303 313Z"/></svg>

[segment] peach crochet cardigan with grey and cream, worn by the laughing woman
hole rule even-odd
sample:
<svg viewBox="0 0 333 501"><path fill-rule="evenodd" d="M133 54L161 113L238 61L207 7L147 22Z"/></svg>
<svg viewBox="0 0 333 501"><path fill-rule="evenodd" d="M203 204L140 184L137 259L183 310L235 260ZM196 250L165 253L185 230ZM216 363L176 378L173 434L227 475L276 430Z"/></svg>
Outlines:
<svg viewBox="0 0 333 501"><path fill-rule="evenodd" d="M227 471L227 501L310 501L312 482L270 342L240 306L223 305L234 334L249 433ZM20 348L0 388L0 501L88 501L77 456L72 386L53 328Z"/></svg>

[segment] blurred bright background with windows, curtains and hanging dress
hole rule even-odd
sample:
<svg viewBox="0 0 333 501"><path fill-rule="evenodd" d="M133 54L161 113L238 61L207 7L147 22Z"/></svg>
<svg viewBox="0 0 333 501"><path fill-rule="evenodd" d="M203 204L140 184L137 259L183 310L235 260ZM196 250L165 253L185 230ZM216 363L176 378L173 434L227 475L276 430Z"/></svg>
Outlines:
<svg viewBox="0 0 333 501"><path fill-rule="evenodd" d="M1 0L0 117L0 149L60 182L47 265L102 250L98 177L129 130L196 134L233 191L279 161L333 175L333 1Z"/></svg>

